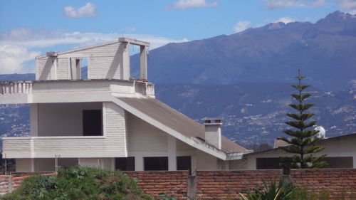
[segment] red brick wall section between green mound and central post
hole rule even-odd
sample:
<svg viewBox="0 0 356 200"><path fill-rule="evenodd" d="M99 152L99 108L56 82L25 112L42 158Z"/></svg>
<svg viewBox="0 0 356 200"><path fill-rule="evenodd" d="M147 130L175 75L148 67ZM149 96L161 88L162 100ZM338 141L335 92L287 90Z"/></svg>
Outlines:
<svg viewBox="0 0 356 200"><path fill-rule="evenodd" d="M188 171L177 172L125 172L129 177L139 179L138 186L145 193L159 199L159 193L187 199Z"/></svg>

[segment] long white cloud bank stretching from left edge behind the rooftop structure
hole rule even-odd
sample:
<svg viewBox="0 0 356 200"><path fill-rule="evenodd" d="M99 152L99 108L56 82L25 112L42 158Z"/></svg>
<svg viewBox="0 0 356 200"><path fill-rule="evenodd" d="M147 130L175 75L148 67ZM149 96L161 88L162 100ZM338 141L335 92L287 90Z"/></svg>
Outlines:
<svg viewBox="0 0 356 200"><path fill-rule="evenodd" d="M160 36L125 34L125 37L135 38L151 43L150 49L164 46L167 43L179 43L187 39L172 39ZM63 31L33 30L31 28L18 28L6 33L0 33L0 73L25 73L33 65L25 66L28 60L46 51L53 51L56 45L88 46L108 41L116 41L123 37L120 33L65 33ZM33 51L36 48L36 51ZM38 51L38 48L42 52Z"/></svg>

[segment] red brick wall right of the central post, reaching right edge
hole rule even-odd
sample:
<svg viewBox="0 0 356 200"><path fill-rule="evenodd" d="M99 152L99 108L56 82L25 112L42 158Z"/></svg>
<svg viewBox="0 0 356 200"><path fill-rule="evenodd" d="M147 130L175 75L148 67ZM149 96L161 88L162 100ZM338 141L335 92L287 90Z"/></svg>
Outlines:
<svg viewBox="0 0 356 200"><path fill-rule="evenodd" d="M197 199L234 199L239 192L262 188L263 181L277 181L281 174L282 170L199 171ZM317 193L326 190L330 199L356 199L356 169L292 169L290 179Z"/></svg>

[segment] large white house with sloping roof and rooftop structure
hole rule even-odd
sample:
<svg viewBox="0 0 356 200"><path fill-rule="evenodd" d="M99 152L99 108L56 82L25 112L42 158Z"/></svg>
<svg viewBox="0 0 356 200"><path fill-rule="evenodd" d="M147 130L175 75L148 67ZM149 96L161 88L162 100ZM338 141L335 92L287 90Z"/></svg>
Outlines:
<svg viewBox="0 0 356 200"><path fill-rule="evenodd" d="M140 46L140 79L130 78L130 45ZM236 169L251 152L155 99L147 47L130 38L36 57L36 80L0 83L1 104L30 105L30 137L3 137L18 172L56 167L122 170ZM83 60L88 78L83 79Z"/></svg>

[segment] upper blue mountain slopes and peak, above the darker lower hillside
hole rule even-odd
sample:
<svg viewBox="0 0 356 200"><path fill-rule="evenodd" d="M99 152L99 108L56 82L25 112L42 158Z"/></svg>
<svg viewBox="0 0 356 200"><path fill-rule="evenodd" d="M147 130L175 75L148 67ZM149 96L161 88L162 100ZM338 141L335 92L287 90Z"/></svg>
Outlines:
<svg viewBox="0 0 356 200"><path fill-rule="evenodd" d="M268 23L169 43L150 51L148 77L152 83L290 83L300 68L311 85L343 90L356 81L355 52L356 15L335 11L316 23ZM138 61L132 57L136 68Z"/></svg>

